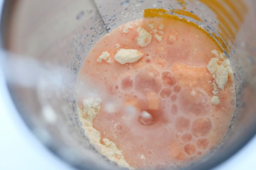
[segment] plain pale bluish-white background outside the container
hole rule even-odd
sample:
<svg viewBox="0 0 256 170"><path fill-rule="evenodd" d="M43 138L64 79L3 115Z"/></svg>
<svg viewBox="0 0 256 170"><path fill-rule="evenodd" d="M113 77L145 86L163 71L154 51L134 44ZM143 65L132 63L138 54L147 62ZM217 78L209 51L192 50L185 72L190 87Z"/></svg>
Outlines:
<svg viewBox="0 0 256 170"><path fill-rule="evenodd" d="M2 0L0 0L0 7ZM1 52L0 52L1 55ZM4 57L4 56L0 56ZM0 60L1 61L1 60ZM1 66L1 64L0 64ZM0 68L0 169L74 170L55 157L28 130L11 102ZM256 169L256 137L216 170Z"/></svg>

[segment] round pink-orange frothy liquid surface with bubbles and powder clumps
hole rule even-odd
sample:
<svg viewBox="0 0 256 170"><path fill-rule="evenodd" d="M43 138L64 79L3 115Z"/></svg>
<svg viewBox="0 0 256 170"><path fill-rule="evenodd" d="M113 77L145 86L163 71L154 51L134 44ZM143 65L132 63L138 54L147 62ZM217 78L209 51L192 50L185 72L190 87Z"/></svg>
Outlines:
<svg viewBox="0 0 256 170"><path fill-rule="evenodd" d="M220 144L235 108L229 60L206 33L143 18L105 35L78 79L92 145L128 169L181 166Z"/></svg>

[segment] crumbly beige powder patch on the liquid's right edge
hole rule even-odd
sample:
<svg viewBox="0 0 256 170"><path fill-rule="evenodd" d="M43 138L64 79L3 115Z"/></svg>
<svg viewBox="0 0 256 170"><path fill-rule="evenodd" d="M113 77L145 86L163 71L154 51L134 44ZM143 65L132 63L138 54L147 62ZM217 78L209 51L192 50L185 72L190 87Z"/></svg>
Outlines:
<svg viewBox="0 0 256 170"><path fill-rule="evenodd" d="M219 90L224 91L225 86L228 83L228 78L233 75L232 68L230 66L229 60L225 57L222 52L217 50L211 51L214 58L210 59L208 63L207 69L210 74L213 74L213 97L211 99L211 103L218 105L220 103L220 99L218 98Z"/></svg>

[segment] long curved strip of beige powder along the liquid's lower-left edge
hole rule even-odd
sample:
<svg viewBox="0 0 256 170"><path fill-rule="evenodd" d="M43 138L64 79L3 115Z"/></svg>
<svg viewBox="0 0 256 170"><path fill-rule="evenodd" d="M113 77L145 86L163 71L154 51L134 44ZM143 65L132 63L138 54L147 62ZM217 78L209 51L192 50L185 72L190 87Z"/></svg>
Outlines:
<svg viewBox="0 0 256 170"><path fill-rule="evenodd" d="M98 151L104 154L108 159L116 162L120 166L126 167L127 169L134 169L126 162L117 145L107 138L102 139L104 142L104 144L102 144L100 142L100 139L102 138L100 132L92 127L92 120L95 118L97 113L100 112L101 103L102 101L100 98L87 98L83 101L83 106L80 107L80 120L85 130L85 135L89 138L92 145L95 145L96 149L98 149Z"/></svg>

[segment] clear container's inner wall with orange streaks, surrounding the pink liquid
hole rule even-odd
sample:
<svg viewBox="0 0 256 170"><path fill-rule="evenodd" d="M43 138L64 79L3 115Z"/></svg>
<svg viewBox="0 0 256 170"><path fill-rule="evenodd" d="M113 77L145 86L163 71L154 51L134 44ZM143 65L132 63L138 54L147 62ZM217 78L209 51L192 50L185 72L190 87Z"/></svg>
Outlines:
<svg viewBox="0 0 256 170"><path fill-rule="evenodd" d="M228 134L210 154L183 169L210 169L255 135L255 1L5 1L1 64L16 108L44 145L78 169L120 169L85 136L75 81L97 40L143 18L146 8L164 8L161 15L185 18L205 30L223 47L235 73L237 109Z"/></svg>

